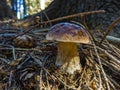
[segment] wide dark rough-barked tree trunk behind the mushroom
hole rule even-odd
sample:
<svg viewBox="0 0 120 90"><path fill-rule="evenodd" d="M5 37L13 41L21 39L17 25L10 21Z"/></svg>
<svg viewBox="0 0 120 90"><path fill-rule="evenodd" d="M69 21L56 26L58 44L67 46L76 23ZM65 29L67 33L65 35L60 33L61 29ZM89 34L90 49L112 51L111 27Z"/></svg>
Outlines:
<svg viewBox="0 0 120 90"><path fill-rule="evenodd" d="M86 22L89 28L99 26L102 29L106 29L111 22L120 17L119 0L54 0L44 11L50 19L55 19L93 10L105 10L106 13L86 16ZM80 17L72 18L70 20L81 22ZM120 25L115 27L115 29L117 30L114 30L114 32L120 37Z"/></svg>

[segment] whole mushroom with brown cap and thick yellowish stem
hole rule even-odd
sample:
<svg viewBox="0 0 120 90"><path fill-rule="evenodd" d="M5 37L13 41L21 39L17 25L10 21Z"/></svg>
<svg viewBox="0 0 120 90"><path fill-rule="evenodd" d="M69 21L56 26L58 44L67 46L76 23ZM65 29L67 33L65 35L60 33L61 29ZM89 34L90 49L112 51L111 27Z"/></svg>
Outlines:
<svg viewBox="0 0 120 90"><path fill-rule="evenodd" d="M89 44L89 35L83 25L59 23L51 27L46 35L47 40L58 41L56 65L69 74L81 70L77 43Z"/></svg>

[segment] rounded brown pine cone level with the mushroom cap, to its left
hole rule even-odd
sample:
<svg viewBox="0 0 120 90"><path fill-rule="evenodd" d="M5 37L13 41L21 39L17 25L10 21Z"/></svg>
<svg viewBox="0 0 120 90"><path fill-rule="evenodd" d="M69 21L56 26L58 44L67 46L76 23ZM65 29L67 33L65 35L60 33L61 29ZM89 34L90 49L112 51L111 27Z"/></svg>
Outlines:
<svg viewBox="0 0 120 90"><path fill-rule="evenodd" d="M22 35L14 39L14 45L20 48L34 48L36 41L29 35Z"/></svg>

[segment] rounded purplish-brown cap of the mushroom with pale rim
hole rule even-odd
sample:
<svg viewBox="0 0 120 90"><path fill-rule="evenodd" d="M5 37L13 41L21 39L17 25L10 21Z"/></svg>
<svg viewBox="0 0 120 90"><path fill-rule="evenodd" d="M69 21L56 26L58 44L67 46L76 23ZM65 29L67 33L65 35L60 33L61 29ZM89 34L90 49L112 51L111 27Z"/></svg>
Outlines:
<svg viewBox="0 0 120 90"><path fill-rule="evenodd" d="M51 27L46 39L61 42L90 43L89 35L86 33L84 26L68 22L59 23Z"/></svg>

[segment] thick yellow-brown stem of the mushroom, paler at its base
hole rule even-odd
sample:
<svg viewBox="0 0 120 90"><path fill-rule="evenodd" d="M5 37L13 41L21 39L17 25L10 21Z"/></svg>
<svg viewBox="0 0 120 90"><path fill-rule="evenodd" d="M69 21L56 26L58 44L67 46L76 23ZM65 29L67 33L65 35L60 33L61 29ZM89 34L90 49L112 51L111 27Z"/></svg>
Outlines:
<svg viewBox="0 0 120 90"><path fill-rule="evenodd" d="M77 44L72 42L59 42L56 65L61 66L63 71L73 74L80 70L80 57Z"/></svg>

